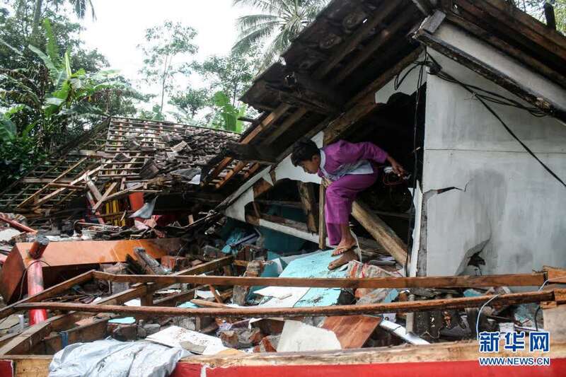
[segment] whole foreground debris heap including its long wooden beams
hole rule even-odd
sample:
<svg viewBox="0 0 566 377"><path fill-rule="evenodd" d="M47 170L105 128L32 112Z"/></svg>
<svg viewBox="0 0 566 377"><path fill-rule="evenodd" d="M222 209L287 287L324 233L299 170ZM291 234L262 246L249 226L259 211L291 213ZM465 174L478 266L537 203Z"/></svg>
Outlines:
<svg viewBox="0 0 566 377"><path fill-rule="evenodd" d="M229 226L225 221L219 224ZM102 272L46 284L44 291L20 301L16 297L0 310L0 325L4 324L0 330L31 335L35 330L26 327L25 311L49 308L52 317L47 321L68 318L69 311L83 313L76 324L54 327L69 333L69 344L110 336L122 342L146 340L182 347L192 354L306 352L473 339L478 315L480 331L509 323L534 330L536 313L526 309L529 303L558 297L558 291L512 294L497 285L539 286L545 272L406 278L399 265L379 267L357 261L342 271L328 271L330 251L266 253L262 245L268 240L258 238L255 230L233 228L222 238L210 225L175 242L112 241L115 247L129 243L120 260L100 263ZM105 241L50 243L44 255L52 257L52 245L88 242L103 245ZM156 250L159 242L162 252ZM198 248L186 247L195 243ZM566 281L566 271L553 270L553 277ZM344 302L341 292L347 291L351 295ZM478 313L478 306L494 294L499 296ZM417 316L410 324L407 313L412 312L426 316ZM543 327L541 318L537 325ZM88 337L83 335L86 328ZM6 343L4 352L22 352L21 339ZM54 353L64 347L49 333L25 339L33 342L25 346L28 351L43 347Z"/></svg>

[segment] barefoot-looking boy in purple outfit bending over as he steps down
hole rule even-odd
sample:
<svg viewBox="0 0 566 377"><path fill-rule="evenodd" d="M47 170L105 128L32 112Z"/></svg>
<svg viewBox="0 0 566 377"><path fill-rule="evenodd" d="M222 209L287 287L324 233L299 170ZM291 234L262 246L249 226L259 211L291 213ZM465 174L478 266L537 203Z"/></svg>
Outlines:
<svg viewBox="0 0 566 377"><path fill-rule="evenodd" d="M325 222L330 245L336 245L333 255L342 255L329 269L335 269L356 259L357 241L352 236L349 217L358 192L373 185L379 175L377 164L391 163L393 172L405 175L403 166L373 143L350 143L340 140L318 149L314 141L301 139L293 146L291 162L306 173L318 174L330 181L325 196Z"/></svg>

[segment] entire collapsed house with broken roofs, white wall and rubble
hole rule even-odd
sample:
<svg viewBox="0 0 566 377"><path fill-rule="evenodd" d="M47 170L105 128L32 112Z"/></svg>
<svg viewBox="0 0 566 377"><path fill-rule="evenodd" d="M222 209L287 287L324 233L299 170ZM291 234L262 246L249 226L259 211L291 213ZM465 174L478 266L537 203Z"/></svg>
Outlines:
<svg viewBox="0 0 566 377"><path fill-rule="evenodd" d="M332 1L282 59L243 96L262 114L241 136L112 118L4 190L23 231L1 277L10 370L112 335L202 355L176 376L471 375L478 332L543 327L558 375L566 38L503 0ZM411 174L357 198L362 260L334 271L300 137L372 141Z"/></svg>

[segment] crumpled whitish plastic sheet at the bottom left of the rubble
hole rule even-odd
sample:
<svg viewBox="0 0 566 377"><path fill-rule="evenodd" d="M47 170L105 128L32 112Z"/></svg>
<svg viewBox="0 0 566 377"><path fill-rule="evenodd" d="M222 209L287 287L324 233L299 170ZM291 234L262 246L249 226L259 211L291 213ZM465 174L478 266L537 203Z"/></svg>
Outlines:
<svg viewBox="0 0 566 377"><path fill-rule="evenodd" d="M190 352L151 342L97 340L70 344L53 356L49 377L166 377Z"/></svg>

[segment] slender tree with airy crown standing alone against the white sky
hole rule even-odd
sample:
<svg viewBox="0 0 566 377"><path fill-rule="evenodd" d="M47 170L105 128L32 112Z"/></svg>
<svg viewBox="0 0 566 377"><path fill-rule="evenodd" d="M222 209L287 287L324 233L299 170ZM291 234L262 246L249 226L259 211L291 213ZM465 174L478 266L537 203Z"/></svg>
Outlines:
<svg viewBox="0 0 566 377"><path fill-rule="evenodd" d="M177 62L175 58L183 56L185 62L188 57L197 52L197 45L193 43L197 32L181 23L166 21L163 25L154 26L146 30L146 43L138 47L144 52L144 74L147 83L158 85L161 90L160 112L163 112L165 96L171 94L175 88L175 76L190 74L190 64Z"/></svg>

